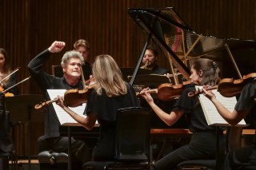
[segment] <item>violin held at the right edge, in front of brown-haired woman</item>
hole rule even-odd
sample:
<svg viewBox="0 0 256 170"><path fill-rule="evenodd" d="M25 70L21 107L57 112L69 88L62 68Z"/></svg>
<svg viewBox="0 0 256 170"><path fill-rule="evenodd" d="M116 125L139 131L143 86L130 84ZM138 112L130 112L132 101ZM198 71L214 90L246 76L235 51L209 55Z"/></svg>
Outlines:
<svg viewBox="0 0 256 170"><path fill-rule="evenodd" d="M253 81L256 81L256 73L249 73L243 76L242 79L224 78L219 81L218 85L206 88L206 90L217 89L223 97L235 97L242 92L245 85ZM188 93L188 96L194 97L200 93L202 93L202 90L196 90Z"/></svg>

